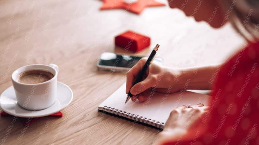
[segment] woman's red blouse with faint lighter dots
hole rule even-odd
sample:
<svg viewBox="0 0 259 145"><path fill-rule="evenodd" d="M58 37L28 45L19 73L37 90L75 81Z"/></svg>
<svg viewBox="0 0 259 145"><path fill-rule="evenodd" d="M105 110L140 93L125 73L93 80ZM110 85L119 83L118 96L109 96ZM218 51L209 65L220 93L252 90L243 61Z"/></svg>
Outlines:
<svg viewBox="0 0 259 145"><path fill-rule="evenodd" d="M205 133L164 145L259 145L259 42L230 58L217 75Z"/></svg>

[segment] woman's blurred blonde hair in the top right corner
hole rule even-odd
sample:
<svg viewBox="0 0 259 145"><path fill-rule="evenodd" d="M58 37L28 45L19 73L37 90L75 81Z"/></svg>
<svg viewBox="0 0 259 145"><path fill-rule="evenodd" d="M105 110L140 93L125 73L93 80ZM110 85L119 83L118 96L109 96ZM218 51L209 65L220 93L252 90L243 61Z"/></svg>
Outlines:
<svg viewBox="0 0 259 145"><path fill-rule="evenodd" d="M259 1L221 0L235 30L249 42L259 42ZM226 14L225 14L226 15Z"/></svg>

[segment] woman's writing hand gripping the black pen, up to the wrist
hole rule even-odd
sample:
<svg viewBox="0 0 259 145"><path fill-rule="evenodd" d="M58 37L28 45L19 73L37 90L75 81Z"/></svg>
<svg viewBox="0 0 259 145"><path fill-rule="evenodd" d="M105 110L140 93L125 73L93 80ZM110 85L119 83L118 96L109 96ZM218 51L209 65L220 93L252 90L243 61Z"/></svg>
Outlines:
<svg viewBox="0 0 259 145"><path fill-rule="evenodd" d="M136 101L137 98L140 102L146 101L152 87L153 90L155 89L160 93L166 93L170 86L170 93L181 90L181 87L178 86L179 83L176 85L181 71L159 66L155 63L149 66L143 81L132 86L145 63L146 59L141 59L127 72L126 93L129 93L130 90L133 95L132 101Z"/></svg>

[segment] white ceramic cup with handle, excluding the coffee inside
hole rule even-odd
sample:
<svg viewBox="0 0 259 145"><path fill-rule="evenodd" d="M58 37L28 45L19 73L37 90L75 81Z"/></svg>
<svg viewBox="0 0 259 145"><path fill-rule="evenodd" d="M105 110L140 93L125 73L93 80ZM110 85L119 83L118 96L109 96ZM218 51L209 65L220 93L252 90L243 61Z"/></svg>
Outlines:
<svg viewBox="0 0 259 145"><path fill-rule="evenodd" d="M17 80L24 71L48 71L54 77L38 84L24 84ZM55 64L33 64L16 69L12 74L12 82L18 104L28 110L42 110L50 107L56 101L58 66Z"/></svg>

